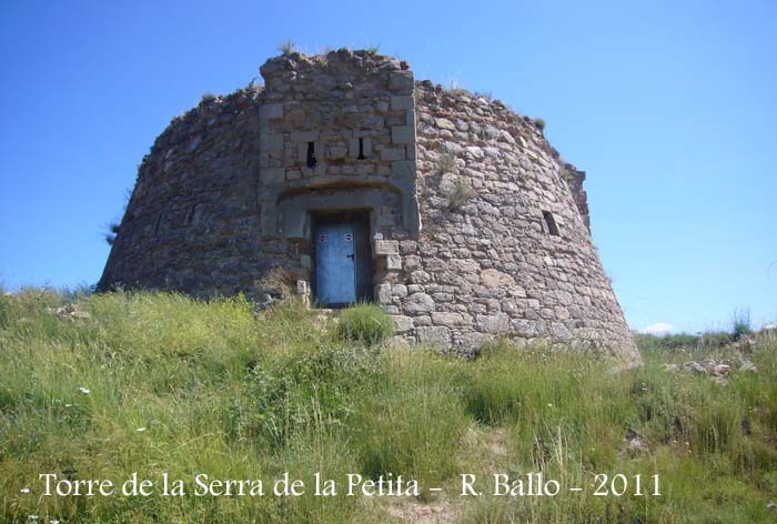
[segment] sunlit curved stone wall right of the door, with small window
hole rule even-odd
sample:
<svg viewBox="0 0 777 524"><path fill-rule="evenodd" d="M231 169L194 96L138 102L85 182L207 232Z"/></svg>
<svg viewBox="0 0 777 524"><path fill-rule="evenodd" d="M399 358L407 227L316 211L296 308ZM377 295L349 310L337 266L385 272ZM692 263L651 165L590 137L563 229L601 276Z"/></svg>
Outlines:
<svg viewBox="0 0 777 524"><path fill-rule="evenodd" d="M541 131L498 102L430 82L415 99L424 230L400 242L403 273L386 304L400 330L458 351L513 336L618 347L638 362Z"/></svg>

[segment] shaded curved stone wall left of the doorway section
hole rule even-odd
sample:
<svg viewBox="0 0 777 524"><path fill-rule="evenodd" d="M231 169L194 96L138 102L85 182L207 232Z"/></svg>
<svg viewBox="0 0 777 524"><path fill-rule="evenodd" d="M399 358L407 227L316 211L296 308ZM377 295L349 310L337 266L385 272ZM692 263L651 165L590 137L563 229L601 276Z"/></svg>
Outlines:
<svg viewBox="0 0 777 524"><path fill-rule="evenodd" d="M284 243L256 234L260 95L245 89L205 98L157 139L140 165L101 288L232 294L287 259Z"/></svg>

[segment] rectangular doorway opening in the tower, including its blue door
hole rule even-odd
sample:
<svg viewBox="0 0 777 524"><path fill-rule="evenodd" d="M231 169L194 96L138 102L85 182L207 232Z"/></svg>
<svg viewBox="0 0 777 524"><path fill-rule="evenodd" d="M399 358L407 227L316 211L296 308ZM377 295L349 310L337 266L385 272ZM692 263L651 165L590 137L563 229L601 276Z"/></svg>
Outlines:
<svg viewBox="0 0 777 524"><path fill-rule="evenodd" d="M320 308L347 308L356 302L371 301L370 213L315 213L311 219L314 303Z"/></svg>

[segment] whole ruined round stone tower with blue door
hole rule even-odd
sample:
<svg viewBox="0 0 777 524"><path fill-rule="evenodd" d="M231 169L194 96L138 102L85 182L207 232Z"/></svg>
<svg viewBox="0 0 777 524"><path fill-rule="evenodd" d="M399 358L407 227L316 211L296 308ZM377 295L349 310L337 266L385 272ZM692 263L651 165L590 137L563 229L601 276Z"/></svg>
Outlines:
<svg viewBox="0 0 777 524"><path fill-rule="evenodd" d="M263 89L203 98L157 139L101 288L259 299L283 268L313 306L374 301L444 350L511 336L638 361L585 173L534 122L367 51L261 73Z"/></svg>

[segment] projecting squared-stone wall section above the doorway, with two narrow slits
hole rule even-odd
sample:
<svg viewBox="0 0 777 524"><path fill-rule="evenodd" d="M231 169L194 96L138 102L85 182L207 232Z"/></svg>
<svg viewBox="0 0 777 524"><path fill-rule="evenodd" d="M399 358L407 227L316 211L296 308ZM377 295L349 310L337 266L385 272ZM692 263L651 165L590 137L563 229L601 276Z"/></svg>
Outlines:
<svg viewBox="0 0 777 524"><path fill-rule="evenodd" d="M304 239L299 194L380 189L401 209L373 208L380 228L416 235L413 73L406 62L366 51L299 53L268 60L260 109L262 233ZM299 200L299 199L296 199ZM353 203L350 203L353 205Z"/></svg>

